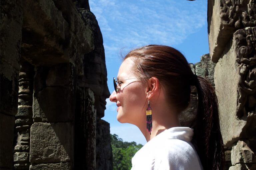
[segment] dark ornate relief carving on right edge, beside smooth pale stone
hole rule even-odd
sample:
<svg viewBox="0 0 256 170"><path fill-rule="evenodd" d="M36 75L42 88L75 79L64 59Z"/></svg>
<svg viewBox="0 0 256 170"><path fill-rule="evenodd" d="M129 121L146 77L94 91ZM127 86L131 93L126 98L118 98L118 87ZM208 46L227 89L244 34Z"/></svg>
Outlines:
<svg viewBox="0 0 256 170"><path fill-rule="evenodd" d="M254 115L256 111L256 27L238 30L234 37L240 69L237 116L241 118Z"/></svg>

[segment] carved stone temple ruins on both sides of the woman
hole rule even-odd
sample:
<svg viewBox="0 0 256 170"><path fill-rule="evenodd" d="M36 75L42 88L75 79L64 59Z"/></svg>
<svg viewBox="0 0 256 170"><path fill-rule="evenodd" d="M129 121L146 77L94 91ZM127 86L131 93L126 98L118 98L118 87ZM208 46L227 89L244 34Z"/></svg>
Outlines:
<svg viewBox="0 0 256 170"><path fill-rule="evenodd" d="M208 37L190 66L215 87L225 170L256 169L256 0L208 0ZM113 169L106 77L88 1L1 2L0 168ZM183 126L196 105L192 87Z"/></svg>

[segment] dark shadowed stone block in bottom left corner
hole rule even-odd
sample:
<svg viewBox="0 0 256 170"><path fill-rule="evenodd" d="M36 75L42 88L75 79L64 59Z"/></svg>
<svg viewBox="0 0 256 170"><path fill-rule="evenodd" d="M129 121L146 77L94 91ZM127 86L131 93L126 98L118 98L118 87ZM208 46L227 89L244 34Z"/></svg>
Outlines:
<svg viewBox="0 0 256 170"><path fill-rule="evenodd" d="M13 163L14 121L14 116L0 114L0 165L10 169Z"/></svg>

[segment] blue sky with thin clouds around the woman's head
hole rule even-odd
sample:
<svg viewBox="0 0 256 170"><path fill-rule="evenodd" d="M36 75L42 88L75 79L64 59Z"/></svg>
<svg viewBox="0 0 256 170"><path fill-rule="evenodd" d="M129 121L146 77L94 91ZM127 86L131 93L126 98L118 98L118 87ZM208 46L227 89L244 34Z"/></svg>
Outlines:
<svg viewBox="0 0 256 170"><path fill-rule="evenodd" d="M138 46L164 44L180 50L189 63L209 53L206 0L89 0L89 4L103 35L110 93L121 51L125 55ZM110 123L110 133L144 145L139 128L119 123L116 103L106 101L102 119Z"/></svg>

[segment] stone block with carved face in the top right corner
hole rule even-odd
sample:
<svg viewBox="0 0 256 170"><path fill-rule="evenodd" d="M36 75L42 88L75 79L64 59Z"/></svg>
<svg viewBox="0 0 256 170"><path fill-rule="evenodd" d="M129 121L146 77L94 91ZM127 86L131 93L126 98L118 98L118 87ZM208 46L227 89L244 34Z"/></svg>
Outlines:
<svg viewBox="0 0 256 170"><path fill-rule="evenodd" d="M221 57L233 33L256 25L254 0L208 0L208 37L213 62Z"/></svg>

